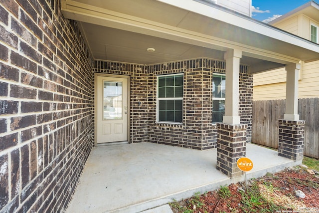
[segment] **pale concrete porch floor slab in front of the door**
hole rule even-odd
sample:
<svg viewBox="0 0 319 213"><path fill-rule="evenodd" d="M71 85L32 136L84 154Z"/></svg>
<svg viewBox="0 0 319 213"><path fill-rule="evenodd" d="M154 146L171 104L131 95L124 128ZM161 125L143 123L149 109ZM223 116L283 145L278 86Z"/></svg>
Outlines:
<svg viewBox="0 0 319 213"><path fill-rule="evenodd" d="M66 212L138 213L244 181L216 170L216 152L155 143L94 147ZM254 163L247 179L301 163L254 144L247 144L246 157Z"/></svg>

